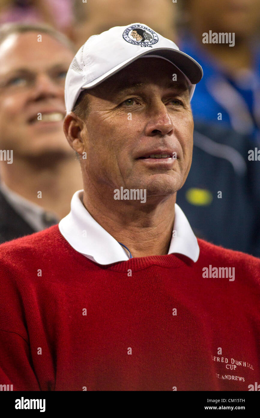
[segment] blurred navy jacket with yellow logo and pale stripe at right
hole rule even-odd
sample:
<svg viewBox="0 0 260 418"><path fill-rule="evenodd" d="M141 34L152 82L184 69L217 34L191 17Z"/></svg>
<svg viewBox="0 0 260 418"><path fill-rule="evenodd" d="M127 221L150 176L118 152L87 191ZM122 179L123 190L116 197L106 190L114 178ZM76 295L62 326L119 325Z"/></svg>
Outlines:
<svg viewBox="0 0 260 418"><path fill-rule="evenodd" d="M192 165L177 204L197 237L260 257L259 161L232 130L194 123Z"/></svg>

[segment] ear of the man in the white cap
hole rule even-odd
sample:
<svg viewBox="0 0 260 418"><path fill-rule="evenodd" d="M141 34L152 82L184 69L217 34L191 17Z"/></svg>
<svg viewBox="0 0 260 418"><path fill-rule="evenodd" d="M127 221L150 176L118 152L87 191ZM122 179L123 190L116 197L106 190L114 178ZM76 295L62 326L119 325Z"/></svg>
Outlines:
<svg viewBox="0 0 260 418"><path fill-rule="evenodd" d="M87 130L83 120L74 112L68 113L63 122L63 131L71 148L82 155L84 151L84 138Z"/></svg>

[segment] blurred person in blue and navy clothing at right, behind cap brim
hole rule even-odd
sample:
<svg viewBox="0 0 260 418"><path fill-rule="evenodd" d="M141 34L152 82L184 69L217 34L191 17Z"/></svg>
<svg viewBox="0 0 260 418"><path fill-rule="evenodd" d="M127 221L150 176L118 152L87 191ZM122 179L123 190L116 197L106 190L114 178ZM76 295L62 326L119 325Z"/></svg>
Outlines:
<svg viewBox="0 0 260 418"><path fill-rule="evenodd" d="M202 63L204 76L191 103L200 135L194 132L192 167L177 202L204 239L260 257L260 169L248 158L260 140L260 1L180 5L181 48ZM234 35L234 45L210 33Z"/></svg>

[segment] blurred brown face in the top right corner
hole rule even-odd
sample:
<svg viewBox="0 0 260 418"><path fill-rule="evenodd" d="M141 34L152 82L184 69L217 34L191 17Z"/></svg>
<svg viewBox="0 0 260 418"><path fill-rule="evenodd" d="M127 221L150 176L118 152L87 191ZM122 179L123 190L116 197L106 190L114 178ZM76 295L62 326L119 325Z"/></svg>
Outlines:
<svg viewBox="0 0 260 418"><path fill-rule="evenodd" d="M260 0L189 0L187 8L202 33L235 32L239 37L259 32Z"/></svg>

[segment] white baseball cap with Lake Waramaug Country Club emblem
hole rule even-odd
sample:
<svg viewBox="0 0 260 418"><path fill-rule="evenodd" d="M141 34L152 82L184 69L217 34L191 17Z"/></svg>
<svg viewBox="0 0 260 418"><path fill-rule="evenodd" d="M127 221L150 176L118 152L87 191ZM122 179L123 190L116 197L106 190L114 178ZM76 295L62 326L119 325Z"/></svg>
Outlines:
<svg viewBox="0 0 260 418"><path fill-rule="evenodd" d="M158 57L174 64L189 83L189 98L203 76L201 66L178 46L142 23L115 26L93 35L73 58L65 81L65 104L71 112L83 89L97 86L140 57Z"/></svg>

